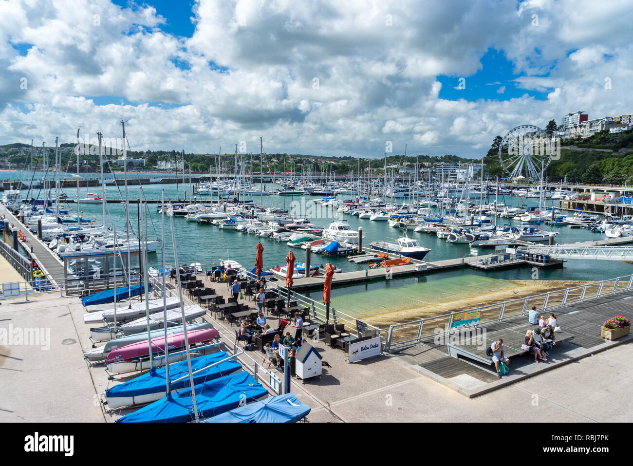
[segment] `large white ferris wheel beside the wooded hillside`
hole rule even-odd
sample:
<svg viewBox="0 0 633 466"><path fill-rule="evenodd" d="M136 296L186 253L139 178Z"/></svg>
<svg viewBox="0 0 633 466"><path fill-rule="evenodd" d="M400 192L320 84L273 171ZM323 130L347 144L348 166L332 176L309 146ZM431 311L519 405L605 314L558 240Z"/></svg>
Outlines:
<svg viewBox="0 0 633 466"><path fill-rule="evenodd" d="M499 161L511 178L540 178L552 158L551 140L534 125L511 129L499 144Z"/></svg>

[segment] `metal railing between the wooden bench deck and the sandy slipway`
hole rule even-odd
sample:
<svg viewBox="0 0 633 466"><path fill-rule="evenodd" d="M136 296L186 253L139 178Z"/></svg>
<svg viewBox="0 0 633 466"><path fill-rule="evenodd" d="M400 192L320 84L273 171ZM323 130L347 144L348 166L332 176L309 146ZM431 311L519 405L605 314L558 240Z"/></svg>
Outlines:
<svg viewBox="0 0 633 466"><path fill-rule="evenodd" d="M511 318L525 316L531 306L536 306L539 312L551 312L564 306L580 303L590 299L608 296L610 294L629 291L633 287L633 274L615 279L592 282L570 288L534 294L526 298L512 299L486 306L479 306L467 310L446 313L434 317L422 318L389 327L384 350L396 353L402 349L424 343L430 339L441 338L455 332L451 329L456 316L479 312L480 320L470 327L481 327L491 322L501 322ZM461 327L463 329L464 327Z"/></svg>

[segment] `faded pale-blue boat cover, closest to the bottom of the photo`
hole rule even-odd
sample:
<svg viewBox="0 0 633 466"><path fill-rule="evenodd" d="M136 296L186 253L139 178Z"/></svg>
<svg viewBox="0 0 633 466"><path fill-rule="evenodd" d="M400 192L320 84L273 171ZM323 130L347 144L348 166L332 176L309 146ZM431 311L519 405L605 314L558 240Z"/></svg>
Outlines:
<svg viewBox="0 0 633 466"><path fill-rule="evenodd" d="M228 413L213 416L204 422L298 422L310 413L292 393L240 406Z"/></svg>

